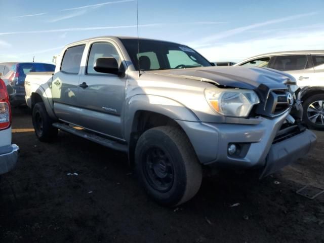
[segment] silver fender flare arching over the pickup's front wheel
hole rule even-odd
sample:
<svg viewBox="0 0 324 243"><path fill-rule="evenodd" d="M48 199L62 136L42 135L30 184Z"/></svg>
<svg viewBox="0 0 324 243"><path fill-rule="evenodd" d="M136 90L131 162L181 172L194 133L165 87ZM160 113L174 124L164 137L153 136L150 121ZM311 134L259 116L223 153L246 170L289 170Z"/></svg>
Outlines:
<svg viewBox="0 0 324 243"><path fill-rule="evenodd" d="M130 141L134 117L137 111L151 111L176 120L199 121L198 117L190 109L173 99L157 95L135 95L127 101L124 113L126 141Z"/></svg>

